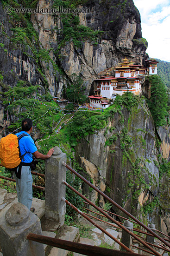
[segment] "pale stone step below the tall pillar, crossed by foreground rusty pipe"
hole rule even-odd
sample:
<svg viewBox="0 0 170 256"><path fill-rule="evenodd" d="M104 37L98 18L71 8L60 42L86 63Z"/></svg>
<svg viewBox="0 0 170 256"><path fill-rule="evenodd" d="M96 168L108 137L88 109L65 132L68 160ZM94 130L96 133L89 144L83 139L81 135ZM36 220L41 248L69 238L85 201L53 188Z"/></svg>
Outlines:
<svg viewBox="0 0 170 256"><path fill-rule="evenodd" d="M62 227L57 239L62 239L70 242L77 242L79 240L79 229L75 227ZM67 256L68 250L53 247L50 250L49 256Z"/></svg>

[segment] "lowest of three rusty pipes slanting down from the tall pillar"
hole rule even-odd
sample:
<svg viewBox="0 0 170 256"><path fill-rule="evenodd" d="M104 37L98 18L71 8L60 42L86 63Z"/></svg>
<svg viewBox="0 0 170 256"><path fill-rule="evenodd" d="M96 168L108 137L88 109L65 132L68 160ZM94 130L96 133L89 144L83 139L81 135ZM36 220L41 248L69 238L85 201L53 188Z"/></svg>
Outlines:
<svg viewBox="0 0 170 256"><path fill-rule="evenodd" d="M113 239L116 243L119 243L121 247L126 249L126 251L132 252L131 249L129 249L125 244L121 243L118 239L116 239L114 236L112 236L110 233L108 233L105 229L101 228L98 224L96 224L94 221L92 221L88 216L86 216L81 210L77 209L76 206L74 206L72 203L70 203L68 200L66 200L64 197L62 197L62 200L68 204L71 208L73 208L78 214L83 216L86 220L91 222L96 228L100 229L103 233L105 233L107 236L109 236L111 239Z"/></svg>

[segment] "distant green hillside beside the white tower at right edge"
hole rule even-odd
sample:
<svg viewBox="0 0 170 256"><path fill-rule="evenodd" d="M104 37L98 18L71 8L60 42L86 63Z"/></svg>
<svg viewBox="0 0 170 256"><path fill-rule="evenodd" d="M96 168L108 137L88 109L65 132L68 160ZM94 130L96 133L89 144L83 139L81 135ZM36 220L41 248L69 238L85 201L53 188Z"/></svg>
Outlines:
<svg viewBox="0 0 170 256"><path fill-rule="evenodd" d="M170 87L170 62L157 59L157 74L162 78L164 85Z"/></svg>

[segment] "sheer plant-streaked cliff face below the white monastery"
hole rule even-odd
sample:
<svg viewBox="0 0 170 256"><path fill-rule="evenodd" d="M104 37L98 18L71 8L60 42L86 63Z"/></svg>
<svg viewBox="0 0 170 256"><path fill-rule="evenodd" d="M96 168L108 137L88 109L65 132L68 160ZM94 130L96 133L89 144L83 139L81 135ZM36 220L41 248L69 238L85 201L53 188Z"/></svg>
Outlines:
<svg viewBox="0 0 170 256"><path fill-rule="evenodd" d="M77 161L95 186L132 215L144 222L147 218L168 234L170 209L164 195L169 194L169 178L163 175L159 188L158 155L162 151L157 149L156 130L145 101L131 111L122 108L105 129L82 139L76 152ZM83 189L91 200L103 206L101 196L98 198L86 186ZM115 207L112 209L122 215Z"/></svg>

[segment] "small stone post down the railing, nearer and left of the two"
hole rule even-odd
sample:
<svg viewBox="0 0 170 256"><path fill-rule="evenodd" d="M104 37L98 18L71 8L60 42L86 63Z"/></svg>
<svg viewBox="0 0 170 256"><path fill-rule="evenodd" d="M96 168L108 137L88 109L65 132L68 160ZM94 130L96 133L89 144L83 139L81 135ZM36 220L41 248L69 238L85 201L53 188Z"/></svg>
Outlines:
<svg viewBox="0 0 170 256"><path fill-rule="evenodd" d="M132 232L133 229L133 223L129 222L128 220L126 220L123 223L123 226L128 229L129 231ZM124 229L122 229L122 239L121 242L123 244L125 244L129 249L131 249L131 245L132 245L132 236L130 234L128 234ZM123 248L121 248L121 250L125 250Z"/></svg>

